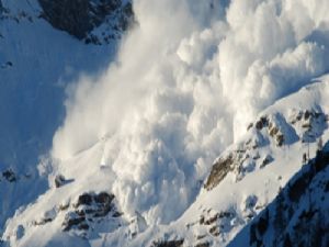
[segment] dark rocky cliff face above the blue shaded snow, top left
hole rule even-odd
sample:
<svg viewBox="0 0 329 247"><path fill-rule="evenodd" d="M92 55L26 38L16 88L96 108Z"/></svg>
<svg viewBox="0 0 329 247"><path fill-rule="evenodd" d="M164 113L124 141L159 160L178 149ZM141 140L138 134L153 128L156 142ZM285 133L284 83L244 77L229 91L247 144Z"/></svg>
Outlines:
<svg viewBox="0 0 329 247"><path fill-rule="evenodd" d="M43 13L55 29L63 30L87 43L99 43L91 35L94 27L105 23L116 31L125 31L133 20L132 3L122 0L38 0ZM111 34L102 33L106 41ZM99 40L99 38L98 38Z"/></svg>

